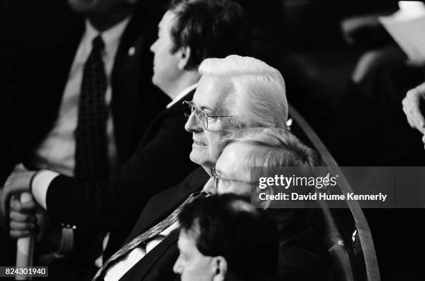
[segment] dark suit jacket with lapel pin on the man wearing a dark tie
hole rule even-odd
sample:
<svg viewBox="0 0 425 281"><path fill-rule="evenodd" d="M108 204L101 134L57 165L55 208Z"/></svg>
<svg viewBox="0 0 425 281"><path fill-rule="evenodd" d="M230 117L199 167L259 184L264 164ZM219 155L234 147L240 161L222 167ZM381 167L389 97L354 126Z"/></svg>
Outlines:
<svg viewBox="0 0 425 281"><path fill-rule="evenodd" d="M0 182L26 162L58 116L84 18L63 1L5 1L0 63ZM151 3L152 2L152 3ZM111 109L118 164L132 155L150 121L169 99L151 83L161 0L140 1L122 35L111 74ZM54 9L53 9L54 8ZM128 50L134 48L131 55Z"/></svg>

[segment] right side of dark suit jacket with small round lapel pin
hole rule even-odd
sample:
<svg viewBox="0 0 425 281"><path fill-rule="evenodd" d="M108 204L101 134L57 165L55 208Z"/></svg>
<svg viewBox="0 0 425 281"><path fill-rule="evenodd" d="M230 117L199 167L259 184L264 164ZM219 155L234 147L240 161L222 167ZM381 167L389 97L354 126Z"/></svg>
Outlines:
<svg viewBox="0 0 425 281"><path fill-rule="evenodd" d="M160 17L156 14L160 9L149 10L144 2L139 1L122 35L111 77L119 164L131 157L153 117L167 104L167 96L151 82L153 53L149 47L156 40L153 25L159 22Z"/></svg>

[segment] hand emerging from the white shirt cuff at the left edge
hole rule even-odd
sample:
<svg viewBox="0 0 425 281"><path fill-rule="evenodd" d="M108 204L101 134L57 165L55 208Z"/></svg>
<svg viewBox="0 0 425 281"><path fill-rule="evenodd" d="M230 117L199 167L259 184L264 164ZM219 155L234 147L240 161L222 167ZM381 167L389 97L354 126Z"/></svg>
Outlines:
<svg viewBox="0 0 425 281"><path fill-rule="evenodd" d="M17 167L8 177L3 186L1 195L1 210L3 214L7 214L7 207L12 195L22 194L22 192L30 192L30 182L35 171L28 171L22 167Z"/></svg>

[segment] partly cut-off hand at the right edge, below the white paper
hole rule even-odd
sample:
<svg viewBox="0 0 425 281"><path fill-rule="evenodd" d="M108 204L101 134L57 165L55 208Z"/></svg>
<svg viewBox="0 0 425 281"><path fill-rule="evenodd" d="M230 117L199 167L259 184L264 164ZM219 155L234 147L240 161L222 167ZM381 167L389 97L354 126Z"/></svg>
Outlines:
<svg viewBox="0 0 425 281"><path fill-rule="evenodd" d="M408 91L401 103L410 126L425 135L425 119L419 110L421 100L425 101L425 83Z"/></svg>

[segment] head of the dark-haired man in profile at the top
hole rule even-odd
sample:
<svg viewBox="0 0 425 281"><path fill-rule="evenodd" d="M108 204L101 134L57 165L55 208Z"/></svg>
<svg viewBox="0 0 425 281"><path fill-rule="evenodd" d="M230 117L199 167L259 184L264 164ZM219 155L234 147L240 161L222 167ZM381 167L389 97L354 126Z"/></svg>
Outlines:
<svg viewBox="0 0 425 281"><path fill-rule="evenodd" d="M249 46L247 17L235 1L173 0L151 46L152 82L174 98L184 84L197 83L202 60L244 54Z"/></svg>

